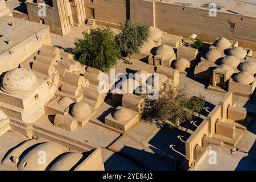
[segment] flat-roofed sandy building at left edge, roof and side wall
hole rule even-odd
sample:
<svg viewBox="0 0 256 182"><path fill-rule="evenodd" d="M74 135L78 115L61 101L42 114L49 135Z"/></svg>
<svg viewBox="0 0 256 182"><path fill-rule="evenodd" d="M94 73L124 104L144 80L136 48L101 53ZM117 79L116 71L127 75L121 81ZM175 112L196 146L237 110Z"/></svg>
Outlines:
<svg viewBox="0 0 256 182"><path fill-rule="evenodd" d="M43 44L52 44L46 25L6 15L0 24L0 73L18 67Z"/></svg>

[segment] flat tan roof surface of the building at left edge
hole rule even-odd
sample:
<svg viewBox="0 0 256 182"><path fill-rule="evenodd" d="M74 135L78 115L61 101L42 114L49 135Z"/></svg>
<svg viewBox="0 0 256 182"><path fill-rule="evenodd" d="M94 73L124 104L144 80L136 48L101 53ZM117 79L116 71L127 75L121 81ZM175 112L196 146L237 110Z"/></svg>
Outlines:
<svg viewBox="0 0 256 182"><path fill-rule="evenodd" d="M12 21L14 26L11 26ZM44 24L2 16L0 18L0 55L44 28L47 28ZM7 43L8 40L10 44Z"/></svg>

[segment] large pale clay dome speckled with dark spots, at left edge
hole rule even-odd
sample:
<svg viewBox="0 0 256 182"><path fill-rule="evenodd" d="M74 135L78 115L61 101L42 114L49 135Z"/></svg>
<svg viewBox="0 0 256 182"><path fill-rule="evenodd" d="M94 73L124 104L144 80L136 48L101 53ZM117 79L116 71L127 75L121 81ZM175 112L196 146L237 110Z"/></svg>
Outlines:
<svg viewBox="0 0 256 182"><path fill-rule="evenodd" d="M26 92L36 82L35 74L27 68L16 68L5 74L2 88L10 92Z"/></svg>

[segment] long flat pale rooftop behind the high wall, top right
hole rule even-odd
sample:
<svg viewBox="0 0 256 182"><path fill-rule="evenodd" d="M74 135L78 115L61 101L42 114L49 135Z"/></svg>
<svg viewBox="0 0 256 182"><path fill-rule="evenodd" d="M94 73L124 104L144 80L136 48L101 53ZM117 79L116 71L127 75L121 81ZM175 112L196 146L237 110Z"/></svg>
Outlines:
<svg viewBox="0 0 256 182"><path fill-rule="evenodd" d="M162 0L163 3L210 9L210 3L216 3L217 12L244 15L256 18L256 0Z"/></svg>

